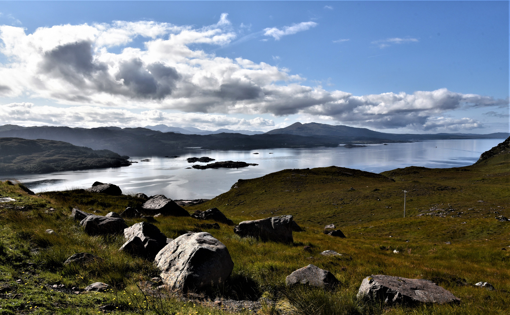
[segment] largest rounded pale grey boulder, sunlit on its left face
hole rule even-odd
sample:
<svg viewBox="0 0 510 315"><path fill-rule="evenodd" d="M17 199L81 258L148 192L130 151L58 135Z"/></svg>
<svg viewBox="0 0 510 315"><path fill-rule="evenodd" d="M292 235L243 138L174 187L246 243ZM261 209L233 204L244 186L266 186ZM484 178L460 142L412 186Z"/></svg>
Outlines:
<svg viewBox="0 0 510 315"><path fill-rule="evenodd" d="M167 287L181 291L224 283L234 269L225 245L207 232L175 238L158 253L155 264Z"/></svg>

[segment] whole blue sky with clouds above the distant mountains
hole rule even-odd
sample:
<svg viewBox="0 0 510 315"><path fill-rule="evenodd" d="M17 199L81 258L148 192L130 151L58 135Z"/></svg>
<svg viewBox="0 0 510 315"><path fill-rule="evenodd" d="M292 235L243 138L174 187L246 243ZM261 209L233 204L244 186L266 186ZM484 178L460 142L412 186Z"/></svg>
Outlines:
<svg viewBox="0 0 510 315"><path fill-rule="evenodd" d="M0 2L0 125L508 132L508 9Z"/></svg>

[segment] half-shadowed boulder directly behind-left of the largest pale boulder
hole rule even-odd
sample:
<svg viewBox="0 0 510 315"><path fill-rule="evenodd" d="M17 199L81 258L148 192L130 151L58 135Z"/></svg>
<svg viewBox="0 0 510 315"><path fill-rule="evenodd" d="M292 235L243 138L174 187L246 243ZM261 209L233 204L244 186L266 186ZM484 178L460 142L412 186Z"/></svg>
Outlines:
<svg viewBox="0 0 510 315"><path fill-rule="evenodd" d="M159 251L166 246L166 235L154 224L140 222L124 229L124 237L130 239L137 236L142 241L147 258L154 259Z"/></svg>

